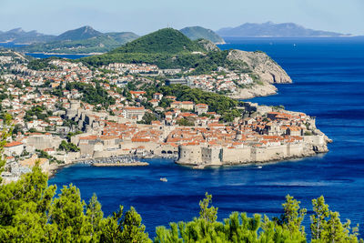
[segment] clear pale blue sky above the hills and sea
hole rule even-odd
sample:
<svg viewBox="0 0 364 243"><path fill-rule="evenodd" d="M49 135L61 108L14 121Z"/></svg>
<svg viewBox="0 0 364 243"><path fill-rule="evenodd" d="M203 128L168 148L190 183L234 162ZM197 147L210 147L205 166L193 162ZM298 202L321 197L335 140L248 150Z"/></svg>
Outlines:
<svg viewBox="0 0 364 243"><path fill-rule="evenodd" d="M167 26L217 30L272 21L364 35L363 13L364 0L0 0L0 30L59 35L91 25L145 35Z"/></svg>

